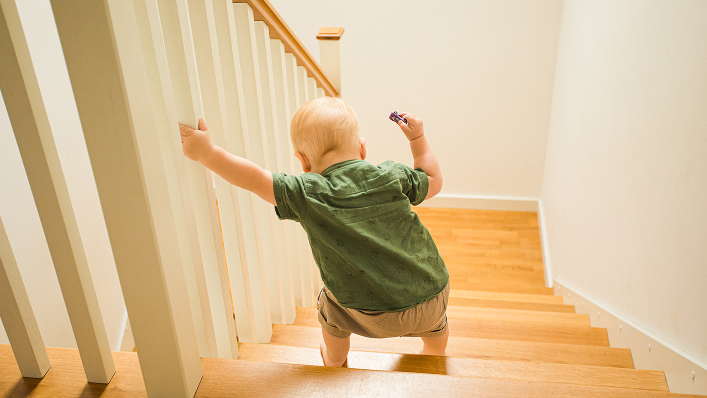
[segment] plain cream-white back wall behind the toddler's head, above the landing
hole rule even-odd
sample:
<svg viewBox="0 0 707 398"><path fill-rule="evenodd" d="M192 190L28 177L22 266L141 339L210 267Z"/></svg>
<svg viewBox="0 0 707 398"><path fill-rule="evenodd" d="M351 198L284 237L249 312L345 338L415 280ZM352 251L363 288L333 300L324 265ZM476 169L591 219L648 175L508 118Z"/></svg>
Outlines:
<svg viewBox="0 0 707 398"><path fill-rule="evenodd" d="M445 176L443 194L539 197L561 0L271 0L319 59L323 26L341 39L342 98L373 163L410 164L387 116L414 112Z"/></svg>

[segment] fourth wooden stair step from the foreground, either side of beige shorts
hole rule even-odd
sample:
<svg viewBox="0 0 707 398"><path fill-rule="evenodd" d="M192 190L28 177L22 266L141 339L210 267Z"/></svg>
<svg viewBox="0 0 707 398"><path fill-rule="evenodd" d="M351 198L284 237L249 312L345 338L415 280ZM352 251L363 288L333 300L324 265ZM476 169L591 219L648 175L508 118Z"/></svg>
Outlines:
<svg viewBox="0 0 707 398"><path fill-rule="evenodd" d="M320 327L315 308L297 308L295 324ZM545 343L609 346L607 329L587 326L562 326L546 323L520 323L496 320L449 318L450 336L477 339L539 341Z"/></svg>

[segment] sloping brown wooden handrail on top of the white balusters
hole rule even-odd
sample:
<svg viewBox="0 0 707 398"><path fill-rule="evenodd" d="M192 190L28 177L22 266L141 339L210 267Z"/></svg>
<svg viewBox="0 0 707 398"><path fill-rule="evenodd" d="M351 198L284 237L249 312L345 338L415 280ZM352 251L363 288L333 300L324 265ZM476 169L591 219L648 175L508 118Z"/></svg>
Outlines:
<svg viewBox="0 0 707 398"><path fill-rule="evenodd" d="M253 10L255 21L263 21L268 25L270 38L279 39L285 45L285 52L295 55L297 64L307 69L307 75L315 78L317 86L324 89L327 95L339 96L339 90L332 84L312 54L300 42L295 33L285 23L279 13L268 0L233 0L234 3L247 3Z"/></svg>

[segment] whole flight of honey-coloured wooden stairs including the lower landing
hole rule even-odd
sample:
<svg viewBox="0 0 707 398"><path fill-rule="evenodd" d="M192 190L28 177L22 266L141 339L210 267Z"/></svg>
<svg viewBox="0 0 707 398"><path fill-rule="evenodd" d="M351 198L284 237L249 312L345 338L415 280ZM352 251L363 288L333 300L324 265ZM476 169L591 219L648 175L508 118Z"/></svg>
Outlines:
<svg viewBox="0 0 707 398"><path fill-rule="evenodd" d="M238 361L202 358L197 397L697 397L670 394L662 372L634 369L631 351L609 347L606 329L544 287L534 213L416 211L450 270L448 356L411 354L420 339L351 336L347 368L325 368L316 310L298 308L295 324L273 325L271 344L239 344ZM76 350L49 355L42 382L18 379L14 365L0 372L0 392L144 397L134 353L114 353L105 387L76 382ZM0 349L0 370L13 360Z"/></svg>

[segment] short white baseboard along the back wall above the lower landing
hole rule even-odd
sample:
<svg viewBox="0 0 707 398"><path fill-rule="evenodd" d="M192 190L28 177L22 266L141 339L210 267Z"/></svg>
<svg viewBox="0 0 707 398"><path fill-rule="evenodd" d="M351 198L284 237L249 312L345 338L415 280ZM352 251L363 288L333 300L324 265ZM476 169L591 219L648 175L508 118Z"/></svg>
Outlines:
<svg viewBox="0 0 707 398"><path fill-rule="evenodd" d="M536 198L484 197L475 195L439 194L423 201L421 207L446 207L451 209L537 211Z"/></svg>

